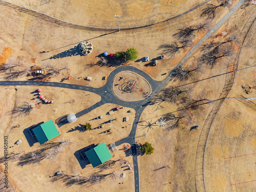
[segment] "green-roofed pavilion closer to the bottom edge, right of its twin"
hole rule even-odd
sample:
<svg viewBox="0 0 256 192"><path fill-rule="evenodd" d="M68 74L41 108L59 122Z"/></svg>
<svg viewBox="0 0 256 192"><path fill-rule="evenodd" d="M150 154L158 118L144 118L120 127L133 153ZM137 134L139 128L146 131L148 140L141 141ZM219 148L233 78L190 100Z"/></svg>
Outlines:
<svg viewBox="0 0 256 192"><path fill-rule="evenodd" d="M85 154L93 167L96 167L112 158L112 155L104 142L85 152Z"/></svg>

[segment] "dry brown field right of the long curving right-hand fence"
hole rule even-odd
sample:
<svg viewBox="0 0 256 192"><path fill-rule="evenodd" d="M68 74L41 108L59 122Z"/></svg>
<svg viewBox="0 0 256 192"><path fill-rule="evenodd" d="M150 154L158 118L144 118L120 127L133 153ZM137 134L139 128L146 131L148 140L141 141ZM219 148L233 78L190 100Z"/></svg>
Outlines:
<svg viewBox="0 0 256 192"><path fill-rule="evenodd" d="M256 27L241 52L239 69L254 66ZM243 84L254 86L256 69L237 73L236 84L228 97L253 98ZM255 189L255 106L254 100L227 99L216 118L206 153L206 186L216 191L250 191Z"/></svg>

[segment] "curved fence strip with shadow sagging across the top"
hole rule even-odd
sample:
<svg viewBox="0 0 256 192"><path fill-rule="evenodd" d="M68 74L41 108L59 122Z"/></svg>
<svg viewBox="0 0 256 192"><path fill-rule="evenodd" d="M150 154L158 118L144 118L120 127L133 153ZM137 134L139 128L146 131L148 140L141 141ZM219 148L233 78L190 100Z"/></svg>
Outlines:
<svg viewBox="0 0 256 192"><path fill-rule="evenodd" d="M198 6L196 6L194 8L191 8L191 9L185 11L184 13L176 15L176 16L174 16L172 18L168 18L168 19L162 20L161 22L156 22L156 23L147 24L147 25L141 25L141 26L121 27L120 29L121 30L138 29L138 28L148 27L148 26L160 24L160 23L163 23L163 22L167 22L168 20L174 19L174 18L179 17L179 16L181 16L183 14L186 14L186 13L188 13L190 11L193 11L194 9L204 5L205 3L209 2L209 1L210 0L206 0L205 2L199 4ZM74 23L71 23L71 22L67 22L66 20L58 19L58 18L50 16L48 14L41 13L39 11L35 11L35 10L29 9L29 8L26 8L26 7L23 7L23 6L20 6L20 5L16 5L14 3L10 3L10 2L4 1L4 0L0 0L0 5L13 8L13 9L19 11L19 12L23 12L23 13L29 14L31 16L37 17L37 18L42 19L42 20L46 20L47 22L54 23L54 24L57 24L57 25L60 25L60 26L63 26L63 27L69 27L69 28L81 29L81 30L88 30L88 31L119 31L118 28L94 27L94 26L86 26L86 25L74 24Z"/></svg>

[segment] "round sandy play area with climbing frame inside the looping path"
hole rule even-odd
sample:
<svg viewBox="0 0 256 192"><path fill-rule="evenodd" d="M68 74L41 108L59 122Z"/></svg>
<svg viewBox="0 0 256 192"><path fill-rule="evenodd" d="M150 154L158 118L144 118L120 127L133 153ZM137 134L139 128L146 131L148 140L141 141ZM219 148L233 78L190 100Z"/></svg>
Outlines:
<svg viewBox="0 0 256 192"><path fill-rule="evenodd" d="M143 100L151 94L150 83L131 71L122 71L114 77L112 91L124 101Z"/></svg>

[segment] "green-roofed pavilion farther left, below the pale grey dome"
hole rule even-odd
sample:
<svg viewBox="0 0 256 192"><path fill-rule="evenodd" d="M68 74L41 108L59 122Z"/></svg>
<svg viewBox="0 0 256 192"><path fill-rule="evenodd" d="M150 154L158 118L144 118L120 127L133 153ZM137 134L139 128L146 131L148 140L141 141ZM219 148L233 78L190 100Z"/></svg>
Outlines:
<svg viewBox="0 0 256 192"><path fill-rule="evenodd" d="M42 123L32 130L40 144L45 143L59 135L52 120Z"/></svg>

